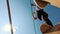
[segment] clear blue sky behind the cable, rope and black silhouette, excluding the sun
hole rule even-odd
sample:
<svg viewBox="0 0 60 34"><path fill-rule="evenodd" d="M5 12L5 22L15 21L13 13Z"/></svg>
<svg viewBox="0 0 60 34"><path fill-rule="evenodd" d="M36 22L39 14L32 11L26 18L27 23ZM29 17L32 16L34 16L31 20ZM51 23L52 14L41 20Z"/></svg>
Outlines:
<svg viewBox="0 0 60 34"><path fill-rule="evenodd" d="M30 0L10 0L10 9L13 26L16 27L15 34L35 34ZM44 10L48 13L53 25L60 22L59 8L49 5ZM6 33L3 31L5 24L9 24L6 0L0 0L0 34L10 34L10 32ZM41 24L42 22L40 20L35 21L37 34L41 34L39 29Z"/></svg>

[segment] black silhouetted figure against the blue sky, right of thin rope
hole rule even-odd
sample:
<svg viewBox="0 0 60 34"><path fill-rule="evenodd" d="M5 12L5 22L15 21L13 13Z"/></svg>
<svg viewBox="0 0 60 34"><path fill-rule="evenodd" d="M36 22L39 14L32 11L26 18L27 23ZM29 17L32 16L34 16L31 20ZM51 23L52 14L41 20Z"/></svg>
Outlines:
<svg viewBox="0 0 60 34"><path fill-rule="evenodd" d="M37 10L36 12L39 20L42 20L41 16L43 16L45 23L53 27L52 22L48 18L48 14L43 9ZM37 19L37 18L34 17L34 19Z"/></svg>

